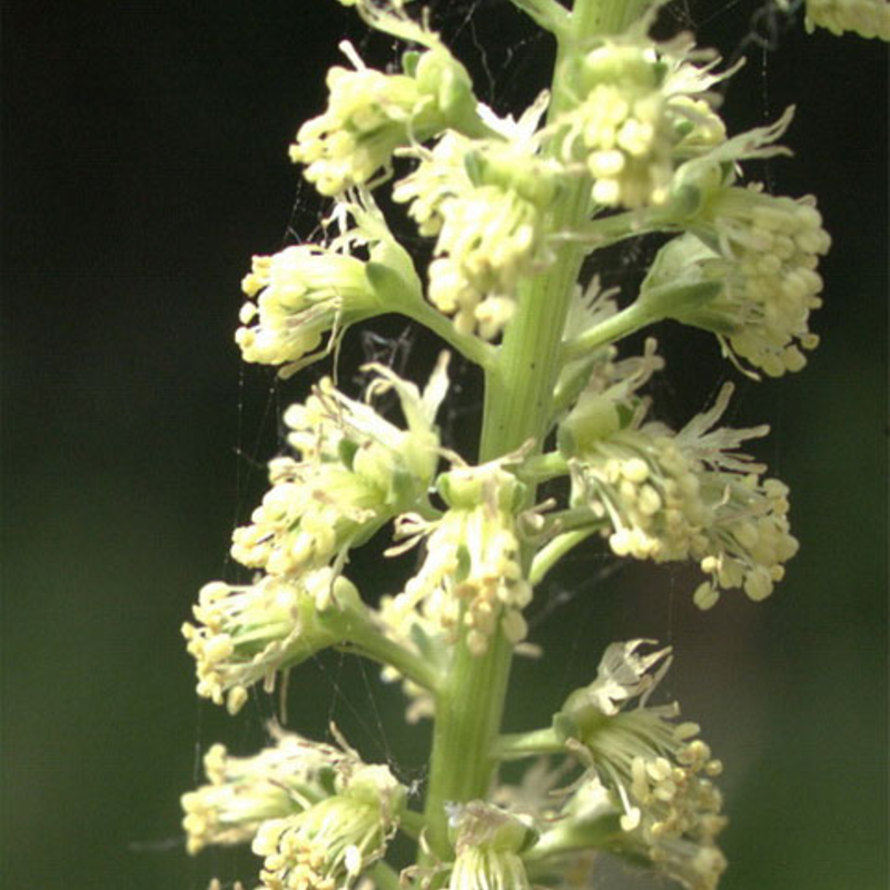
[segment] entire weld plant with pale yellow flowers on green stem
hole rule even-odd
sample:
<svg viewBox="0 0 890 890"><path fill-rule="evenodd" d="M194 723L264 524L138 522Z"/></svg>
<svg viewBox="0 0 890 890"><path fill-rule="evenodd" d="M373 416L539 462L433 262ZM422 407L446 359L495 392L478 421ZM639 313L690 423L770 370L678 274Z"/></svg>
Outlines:
<svg viewBox="0 0 890 890"><path fill-rule="evenodd" d="M595 887L601 852L713 890L721 761L676 703L653 702L669 646L606 645L550 725L501 723L526 610L571 551L691 563L702 610L769 597L798 551L788 487L745 451L768 428L721 425L732 384L672 428L646 395L664 372L655 340L621 350L671 320L710 332L730 376L803 369L831 239L813 196L745 175L789 154L793 109L729 134L714 88L734 69L689 33L650 37L655 0L513 0L556 57L548 89L498 117L427 10L340 2L404 41L402 67L373 70L342 44L327 108L289 149L327 201L323 237L254 258L235 339L283 377L336 359L350 327L383 314L446 349L422 384L370 365L364 394L325 377L285 411L287 451L234 533L253 583L207 584L182 630L198 695L233 715L322 650L378 663L407 719L433 721L425 802L336 729L323 743L276 725L255 756L208 750L207 783L182 798L188 850L250 844L245 886L268 890ZM888 9L808 0L805 26L887 39ZM425 269L387 224L394 204L432 245ZM602 289L597 251L653 233L663 246L639 291ZM472 457L437 427L449 353L484 375ZM399 423L375 408L385 394ZM378 534L387 558L419 565L383 597L349 577L350 552ZM513 784L505 761L527 763ZM387 862L397 833L413 863Z"/></svg>

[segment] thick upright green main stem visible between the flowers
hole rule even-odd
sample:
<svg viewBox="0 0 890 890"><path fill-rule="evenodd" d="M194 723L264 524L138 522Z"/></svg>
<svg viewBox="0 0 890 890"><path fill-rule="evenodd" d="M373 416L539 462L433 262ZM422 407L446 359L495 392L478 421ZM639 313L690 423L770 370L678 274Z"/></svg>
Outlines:
<svg viewBox="0 0 890 890"><path fill-rule="evenodd" d="M566 28L557 34L548 123L576 101L574 62L591 38L622 30L640 7L641 0L575 0ZM557 148L552 144L548 151L555 154ZM591 184L580 177L551 209L546 230L576 231L590 214ZM479 463L495 461L528 439L534 441L537 451L543 446L553 422L554 387L565 360L562 340L566 316L585 253L584 245L564 240L553 265L518 287L516 314L506 328L496 360L485 368ZM530 486L530 503L534 488ZM526 547L526 571L532 555L532 548ZM452 851L445 804L485 798L497 765L512 655L513 646L500 631L483 655L473 655L462 635L452 670L436 698L424 814L432 851L446 861ZM425 861L424 857L421 859Z"/></svg>

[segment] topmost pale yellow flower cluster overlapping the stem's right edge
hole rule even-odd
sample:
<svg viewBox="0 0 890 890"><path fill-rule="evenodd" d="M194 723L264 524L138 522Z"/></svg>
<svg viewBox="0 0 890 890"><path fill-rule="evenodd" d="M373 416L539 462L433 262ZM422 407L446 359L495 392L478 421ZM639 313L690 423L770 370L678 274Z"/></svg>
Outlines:
<svg viewBox="0 0 890 890"><path fill-rule="evenodd" d="M656 49L634 34L610 40L582 60L577 103L554 127L563 160L583 162L593 178L596 204L663 204L676 162L725 138L703 98L721 78L710 73L713 63L692 65L691 49L685 40Z"/></svg>

